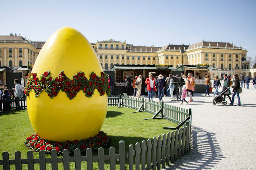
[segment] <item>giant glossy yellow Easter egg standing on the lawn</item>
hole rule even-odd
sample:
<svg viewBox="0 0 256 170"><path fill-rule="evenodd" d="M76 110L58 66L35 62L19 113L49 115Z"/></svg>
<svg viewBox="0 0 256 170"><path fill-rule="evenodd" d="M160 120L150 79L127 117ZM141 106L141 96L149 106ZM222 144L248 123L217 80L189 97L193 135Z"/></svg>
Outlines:
<svg viewBox="0 0 256 170"><path fill-rule="evenodd" d="M70 80L79 71L87 79L93 71L97 76L103 71L88 40L70 27L58 29L48 38L31 72L39 78L47 70L53 78L64 71ZM95 89L92 97L86 97L80 90L69 99L65 92L59 91L51 99L45 89L37 97L31 90L27 109L31 124L41 138L59 142L80 140L99 133L107 113L107 95L100 95Z"/></svg>

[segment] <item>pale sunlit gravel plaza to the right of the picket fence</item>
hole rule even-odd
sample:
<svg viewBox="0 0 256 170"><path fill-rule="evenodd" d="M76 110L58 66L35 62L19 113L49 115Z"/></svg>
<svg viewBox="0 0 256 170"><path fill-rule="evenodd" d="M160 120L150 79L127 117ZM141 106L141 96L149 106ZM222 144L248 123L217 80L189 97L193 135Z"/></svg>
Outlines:
<svg viewBox="0 0 256 170"><path fill-rule="evenodd" d="M213 93L210 95L195 93L189 105L163 98L171 105L192 108L193 149L166 169L256 169L256 90L252 85L248 90L243 88L241 107L214 106Z"/></svg>

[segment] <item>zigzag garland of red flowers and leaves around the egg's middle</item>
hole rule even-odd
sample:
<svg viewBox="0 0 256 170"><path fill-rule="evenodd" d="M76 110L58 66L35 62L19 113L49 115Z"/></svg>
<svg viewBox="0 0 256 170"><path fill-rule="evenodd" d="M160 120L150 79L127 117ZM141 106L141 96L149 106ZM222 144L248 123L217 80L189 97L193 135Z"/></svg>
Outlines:
<svg viewBox="0 0 256 170"><path fill-rule="evenodd" d="M107 74L104 72L97 76L94 71L90 74L90 78L85 77L85 73L78 72L73 76L73 80L67 78L64 71L61 71L58 76L52 78L50 71L45 71L40 78L37 77L36 73L29 73L27 76L27 84L25 87L25 95L28 96L30 91L33 89L35 97L45 89L48 96L52 99L57 96L59 91L65 92L69 99L76 97L76 94L82 90L86 97L92 97L94 90L97 89L100 96L107 93L110 95L110 86L108 83Z"/></svg>

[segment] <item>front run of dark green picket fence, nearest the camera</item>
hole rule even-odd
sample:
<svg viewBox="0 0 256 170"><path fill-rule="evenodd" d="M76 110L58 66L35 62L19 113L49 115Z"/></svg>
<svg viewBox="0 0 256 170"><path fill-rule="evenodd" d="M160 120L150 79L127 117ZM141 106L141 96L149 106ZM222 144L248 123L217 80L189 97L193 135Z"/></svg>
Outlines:
<svg viewBox="0 0 256 170"><path fill-rule="evenodd" d="M115 170L119 164L120 170L125 170L125 166L129 170L160 170L166 165L170 166L170 162L174 162L185 153L189 148L189 126L176 129L176 131L163 134L163 138L159 135L157 138L147 139L147 141L137 142L135 146L129 145L128 151L125 150L125 141L119 141L119 153L116 154L116 148L109 148L109 155L104 155L104 149L99 148L97 155L92 155L92 149L86 150L86 156L81 156L79 149L74 151L74 156L69 156L69 151L64 149L62 157L57 157L57 151L51 151L51 158L45 158L45 152L39 152L39 158L33 158L33 152L27 152L27 159L21 159L21 152L15 152L15 159L9 159L9 153L3 152L3 170L10 170L10 165L15 165L16 170L22 170L22 164L27 165L28 170L34 170L34 165L39 164L40 170L46 170L46 164L50 163L52 170L58 169L58 163L63 165L63 170L70 170L69 163L74 162L76 170L81 170L81 162L86 162L87 170L99 169L104 170L104 163L108 161L110 170ZM98 162L97 167L93 167L93 162Z"/></svg>

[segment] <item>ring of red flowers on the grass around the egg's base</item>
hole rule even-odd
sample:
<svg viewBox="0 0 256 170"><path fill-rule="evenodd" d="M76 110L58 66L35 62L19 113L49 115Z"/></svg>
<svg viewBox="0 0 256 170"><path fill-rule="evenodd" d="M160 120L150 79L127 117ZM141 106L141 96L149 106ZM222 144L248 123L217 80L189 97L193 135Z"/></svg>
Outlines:
<svg viewBox="0 0 256 170"><path fill-rule="evenodd" d="M45 153L50 154L52 150L56 150L57 154L61 155L64 149L69 150L69 153L74 153L76 148L80 149L81 152L85 152L87 148L92 148L93 150L97 150L100 147L106 148L110 142L111 140L109 136L107 136L103 131L100 131L97 135L88 139L81 139L80 141L66 141L63 143L48 141L40 138L37 134L32 134L26 139L24 145L26 148L35 152L43 150Z"/></svg>

